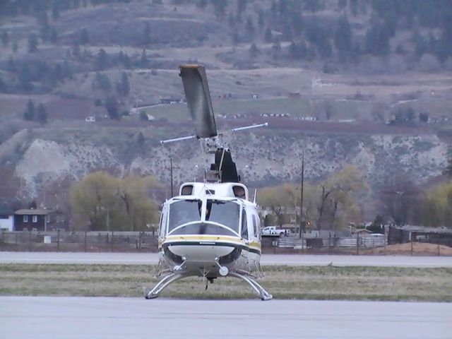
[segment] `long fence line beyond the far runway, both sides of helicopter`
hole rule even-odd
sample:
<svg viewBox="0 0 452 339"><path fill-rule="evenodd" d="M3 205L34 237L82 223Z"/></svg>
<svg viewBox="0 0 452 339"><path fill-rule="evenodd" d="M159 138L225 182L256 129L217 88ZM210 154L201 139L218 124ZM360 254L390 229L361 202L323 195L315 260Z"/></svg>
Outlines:
<svg viewBox="0 0 452 339"><path fill-rule="evenodd" d="M428 248L426 249L426 246ZM393 245L391 245L393 246ZM389 247L391 247L389 246ZM404 254L450 256L452 249L440 244L408 242L397 252L387 250L388 237L262 237L263 253L307 254ZM0 251L157 251L155 232L0 232Z"/></svg>

